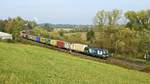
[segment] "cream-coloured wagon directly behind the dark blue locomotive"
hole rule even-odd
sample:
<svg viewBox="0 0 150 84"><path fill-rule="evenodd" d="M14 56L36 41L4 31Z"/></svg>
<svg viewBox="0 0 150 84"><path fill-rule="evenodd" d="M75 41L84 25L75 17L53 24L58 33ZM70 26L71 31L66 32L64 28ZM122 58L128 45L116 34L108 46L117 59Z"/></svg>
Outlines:
<svg viewBox="0 0 150 84"><path fill-rule="evenodd" d="M84 49L88 47L88 45L84 44L71 44L71 50L79 51L79 52L84 52Z"/></svg>

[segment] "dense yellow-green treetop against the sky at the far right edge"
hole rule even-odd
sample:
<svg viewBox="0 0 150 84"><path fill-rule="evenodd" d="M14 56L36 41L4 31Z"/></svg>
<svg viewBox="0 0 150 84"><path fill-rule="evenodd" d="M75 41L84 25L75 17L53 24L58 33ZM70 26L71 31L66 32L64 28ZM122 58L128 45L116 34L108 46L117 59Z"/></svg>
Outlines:
<svg viewBox="0 0 150 84"><path fill-rule="evenodd" d="M125 13L128 19L127 27L134 30L150 29L150 10L142 10L138 12L128 11Z"/></svg>

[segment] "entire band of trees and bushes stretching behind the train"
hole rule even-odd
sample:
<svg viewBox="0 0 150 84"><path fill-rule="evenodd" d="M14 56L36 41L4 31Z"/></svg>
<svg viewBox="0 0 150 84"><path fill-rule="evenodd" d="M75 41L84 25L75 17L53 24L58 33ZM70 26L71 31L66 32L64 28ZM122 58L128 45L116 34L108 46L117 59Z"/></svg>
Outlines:
<svg viewBox="0 0 150 84"><path fill-rule="evenodd" d="M101 10L96 13L93 23L92 28L66 33L64 30L54 31L48 24L38 25L16 17L0 20L0 31L11 33L15 40L19 40L20 31L30 30L34 35L105 48L125 57L143 59L145 54L150 54L150 10L125 13L117 9Z"/></svg>

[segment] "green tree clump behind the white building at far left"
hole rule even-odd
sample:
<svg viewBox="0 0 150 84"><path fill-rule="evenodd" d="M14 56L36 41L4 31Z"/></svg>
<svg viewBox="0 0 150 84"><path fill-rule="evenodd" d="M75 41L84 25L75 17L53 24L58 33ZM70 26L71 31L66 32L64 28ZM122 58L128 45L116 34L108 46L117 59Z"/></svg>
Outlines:
<svg viewBox="0 0 150 84"><path fill-rule="evenodd" d="M14 40L19 40L20 31L32 29L37 25L34 21L24 20L21 17L0 20L0 31L13 35Z"/></svg>

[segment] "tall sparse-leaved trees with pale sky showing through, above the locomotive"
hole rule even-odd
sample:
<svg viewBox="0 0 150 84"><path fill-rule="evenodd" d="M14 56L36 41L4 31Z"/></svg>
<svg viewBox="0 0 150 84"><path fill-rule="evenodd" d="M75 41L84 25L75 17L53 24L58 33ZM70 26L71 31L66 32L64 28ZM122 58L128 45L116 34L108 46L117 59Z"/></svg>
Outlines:
<svg viewBox="0 0 150 84"><path fill-rule="evenodd" d="M118 21L121 18L121 11L120 10L113 10L113 11L98 11L94 23L99 28L114 27L118 24Z"/></svg>

